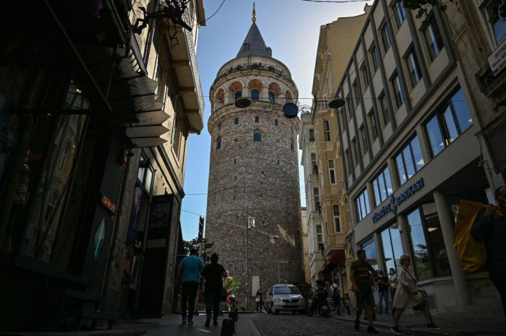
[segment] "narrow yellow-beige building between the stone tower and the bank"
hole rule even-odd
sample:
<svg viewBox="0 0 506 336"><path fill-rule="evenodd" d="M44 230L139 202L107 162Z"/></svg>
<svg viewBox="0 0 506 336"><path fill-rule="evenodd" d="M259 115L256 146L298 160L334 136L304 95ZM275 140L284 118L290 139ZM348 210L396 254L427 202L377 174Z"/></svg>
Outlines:
<svg viewBox="0 0 506 336"><path fill-rule="evenodd" d="M352 227L342 172L337 114L329 108L338 80L355 47L371 6L364 14L339 18L322 25L318 38L311 114L301 117L301 164L305 167L306 202L313 210L308 231L313 232L309 252L311 282L338 279L342 295L348 293L346 261L353 260ZM310 204L310 205L309 205ZM303 223L304 224L304 223Z"/></svg>

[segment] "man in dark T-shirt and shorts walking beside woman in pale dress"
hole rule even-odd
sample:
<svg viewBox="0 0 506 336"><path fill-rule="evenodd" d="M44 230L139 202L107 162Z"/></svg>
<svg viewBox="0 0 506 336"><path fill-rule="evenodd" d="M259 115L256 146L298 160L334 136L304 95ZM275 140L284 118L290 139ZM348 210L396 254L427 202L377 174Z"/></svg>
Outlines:
<svg viewBox="0 0 506 336"><path fill-rule="evenodd" d="M367 319L369 325L367 326L367 332L377 334L376 329L373 326L373 278L376 276L376 271L373 269L369 262L366 262L366 251L359 249L357 251L358 260L352 262L350 267L350 278L353 284L352 289L357 297L357 312L355 318L355 331L360 329L360 315L362 310L366 309Z"/></svg>

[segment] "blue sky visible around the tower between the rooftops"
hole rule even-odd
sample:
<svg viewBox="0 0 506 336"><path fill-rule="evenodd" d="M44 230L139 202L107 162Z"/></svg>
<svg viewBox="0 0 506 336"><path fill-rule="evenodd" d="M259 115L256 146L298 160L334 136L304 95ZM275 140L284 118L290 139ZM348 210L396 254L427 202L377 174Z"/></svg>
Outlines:
<svg viewBox="0 0 506 336"><path fill-rule="evenodd" d="M210 135L209 89L224 63L234 58L252 25L253 2L256 25L272 56L285 63L299 91L300 104L311 105L316 47L320 26L338 17L364 13L366 1L323 3L303 0L204 0L206 26L201 27L197 44L197 63L206 110L200 135L189 137L184 190L181 207L183 239L197 237L199 215L206 216ZM372 4L373 1L369 1ZM220 8L221 5L221 8ZM215 13L215 14L214 14ZM213 15L214 14L214 15ZM300 162L300 153L299 153ZM303 170L300 175L300 203L305 206Z"/></svg>

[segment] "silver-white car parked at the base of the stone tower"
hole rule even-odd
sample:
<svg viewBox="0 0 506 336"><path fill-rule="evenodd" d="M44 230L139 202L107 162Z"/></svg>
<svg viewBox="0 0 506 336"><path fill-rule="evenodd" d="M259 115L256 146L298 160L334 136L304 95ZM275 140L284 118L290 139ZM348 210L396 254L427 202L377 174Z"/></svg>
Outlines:
<svg viewBox="0 0 506 336"><path fill-rule="evenodd" d="M267 313L280 311L306 313L306 300L294 284L274 284L265 295Z"/></svg>

